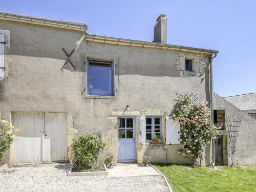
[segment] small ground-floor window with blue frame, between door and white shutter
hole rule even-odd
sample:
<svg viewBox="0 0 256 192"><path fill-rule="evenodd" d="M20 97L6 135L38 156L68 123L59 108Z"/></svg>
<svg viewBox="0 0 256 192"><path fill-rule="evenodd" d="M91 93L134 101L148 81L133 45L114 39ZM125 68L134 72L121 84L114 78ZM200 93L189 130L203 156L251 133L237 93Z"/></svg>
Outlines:
<svg viewBox="0 0 256 192"><path fill-rule="evenodd" d="M154 134L162 139L161 117L146 116L146 141L153 140Z"/></svg>

